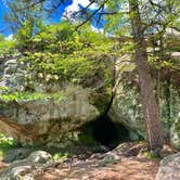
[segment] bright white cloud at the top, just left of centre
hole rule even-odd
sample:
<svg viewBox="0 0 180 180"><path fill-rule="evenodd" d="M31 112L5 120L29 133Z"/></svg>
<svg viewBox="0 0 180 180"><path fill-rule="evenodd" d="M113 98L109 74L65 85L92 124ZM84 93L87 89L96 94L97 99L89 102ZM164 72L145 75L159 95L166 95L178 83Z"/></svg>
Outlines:
<svg viewBox="0 0 180 180"><path fill-rule="evenodd" d="M70 18L73 13L79 10L79 5L87 7L88 4L90 4L89 0L73 0L73 3L65 9L63 15ZM92 3L89 8L93 10L97 5Z"/></svg>

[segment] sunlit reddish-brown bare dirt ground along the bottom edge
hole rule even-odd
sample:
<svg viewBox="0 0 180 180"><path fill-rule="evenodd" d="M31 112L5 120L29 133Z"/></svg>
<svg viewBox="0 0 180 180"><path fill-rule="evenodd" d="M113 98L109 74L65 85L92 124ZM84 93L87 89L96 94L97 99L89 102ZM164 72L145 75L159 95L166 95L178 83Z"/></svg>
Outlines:
<svg viewBox="0 0 180 180"><path fill-rule="evenodd" d="M95 168L91 165L83 167L49 168L40 172L37 180L154 180L159 160L129 157L123 158L115 165Z"/></svg>

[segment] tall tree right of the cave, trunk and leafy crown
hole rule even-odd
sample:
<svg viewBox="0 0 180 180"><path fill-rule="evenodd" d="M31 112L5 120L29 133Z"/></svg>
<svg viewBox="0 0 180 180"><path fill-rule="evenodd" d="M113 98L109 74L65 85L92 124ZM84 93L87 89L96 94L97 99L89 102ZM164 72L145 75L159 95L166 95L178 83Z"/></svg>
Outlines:
<svg viewBox="0 0 180 180"><path fill-rule="evenodd" d="M113 33L117 29L119 33L123 24L127 24L127 29L129 34L132 34L134 41L134 57L139 72L140 78L140 91L143 104L143 113L146 124L146 137L151 150L162 149L164 143L164 134L162 125L159 121L159 110L157 101L155 98L155 90L153 87L153 79L151 77L149 56L146 51L146 36L154 35L157 40L162 40L168 27L175 27L172 24L179 17L179 8L176 1L157 1L152 0L139 1L139 0L128 0L126 1L103 1L110 7L108 12L103 14L112 15L108 17L111 24L116 27L111 28ZM125 2L125 3L124 3ZM124 8L118 11L123 4L129 7L129 11ZM100 2L102 4L102 2ZM100 13L102 14L102 13ZM128 16L128 17L126 17ZM129 23L131 27L129 27ZM160 48L159 54L164 53L163 48ZM162 56L160 56L162 57Z"/></svg>

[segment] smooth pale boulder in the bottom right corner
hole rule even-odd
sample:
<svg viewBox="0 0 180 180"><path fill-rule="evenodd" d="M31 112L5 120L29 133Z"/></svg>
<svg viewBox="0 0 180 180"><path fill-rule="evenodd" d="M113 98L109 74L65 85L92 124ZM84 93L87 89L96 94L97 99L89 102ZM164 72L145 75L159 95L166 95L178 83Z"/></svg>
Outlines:
<svg viewBox="0 0 180 180"><path fill-rule="evenodd" d="M180 179L180 153L169 155L160 162L156 180L179 180Z"/></svg>

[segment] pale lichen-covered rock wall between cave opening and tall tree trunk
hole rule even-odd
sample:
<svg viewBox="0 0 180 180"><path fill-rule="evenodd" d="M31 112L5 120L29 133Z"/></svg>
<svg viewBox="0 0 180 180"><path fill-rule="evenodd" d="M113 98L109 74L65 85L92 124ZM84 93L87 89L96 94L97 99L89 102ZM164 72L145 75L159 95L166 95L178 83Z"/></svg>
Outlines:
<svg viewBox="0 0 180 180"><path fill-rule="evenodd" d="M130 139L138 140L140 137L145 137L145 124L137 85L127 83L136 74L133 73L136 65L130 63L131 60L131 55L125 54L116 62L116 93L108 116L114 123L121 124L129 130Z"/></svg>

